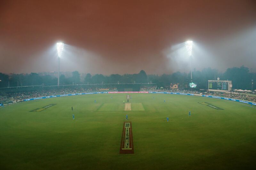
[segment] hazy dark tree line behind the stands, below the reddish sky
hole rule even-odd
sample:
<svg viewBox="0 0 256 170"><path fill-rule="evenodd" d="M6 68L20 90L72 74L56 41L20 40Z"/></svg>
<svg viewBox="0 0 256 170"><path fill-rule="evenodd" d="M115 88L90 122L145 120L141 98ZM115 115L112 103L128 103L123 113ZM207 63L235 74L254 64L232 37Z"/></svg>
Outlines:
<svg viewBox="0 0 256 170"><path fill-rule="evenodd" d="M194 70L193 82L197 89L208 89L208 80L231 80L233 89L252 89L252 80L256 81L256 73L251 73L249 68L232 67L221 73L216 69L204 68L202 71ZM50 75L40 76L37 73L11 74L0 73L0 88L17 86L57 85L58 79ZM190 82L190 73L175 72L172 74L146 74L144 70L135 74L95 74L87 73L83 80L78 71L72 72L72 77L60 75L60 85L69 84L107 84L107 83L156 83L157 87L169 88L171 83L179 83L179 87L187 88ZM256 89L255 87L253 89Z"/></svg>

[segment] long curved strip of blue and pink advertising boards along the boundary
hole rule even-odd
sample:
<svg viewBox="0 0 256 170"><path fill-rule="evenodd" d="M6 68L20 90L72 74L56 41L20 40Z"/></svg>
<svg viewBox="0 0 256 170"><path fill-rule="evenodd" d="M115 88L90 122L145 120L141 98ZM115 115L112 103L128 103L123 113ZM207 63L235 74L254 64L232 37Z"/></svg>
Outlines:
<svg viewBox="0 0 256 170"><path fill-rule="evenodd" d="M45 98L52 98L52 97L63 97L63 96L76 96L76 95L88 95L88 94L113 94L113 93L156 93L156 94L175 94L175 95L187 95L187 96L202 96L202 97L210 97L210 98L216 98L216 99L230 100L230 101L235 101L235 102L240 102L240 103L245 103L245 104L252 104L252 105L256 106L256 103L253 103L253 102L239 100L239 99L233 99L233 98L228 98L228 97L199 95L199 94L190 94L190 93L155 92L155 91L109 91L109 92L75 93L75 94L66 94L66 95L29 98L29 99L24 99L23 101L31 101L31 100L37 100L37 99L45 99Z"/></svg>

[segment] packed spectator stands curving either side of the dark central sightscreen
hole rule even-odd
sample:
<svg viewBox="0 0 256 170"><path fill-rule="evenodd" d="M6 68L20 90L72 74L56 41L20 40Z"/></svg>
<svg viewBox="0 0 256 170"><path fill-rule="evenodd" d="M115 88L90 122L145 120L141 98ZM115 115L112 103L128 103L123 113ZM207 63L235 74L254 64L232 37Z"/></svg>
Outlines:
<svg viewBox="0 0 256 170"><path fill-rule="evenodd" d="M36 97L44 97L44 96L55 96L55 95L64 95L64 94L74 94L74 93L90 93L90 92L99 92L99 91L117 91L116 88L97 88L97 87L83 87L83 86L66 86L66 87L55 87L55 88L38 88L31 89L26 91L10 91L5 93L5 97L0 96L2 100L1 103L8 104L12 102L21 102L24 99L28 98L36 98ZM157 88L156 86L143 86L140 88L140 91L156 91L156 92L176 92L176 93L191 93L191 94L209 94L212 96L220 96L220 97L229 97L240 100L252 101L256 102L256 95L248 95L241 93L224 93L224 92L202 92L196 90L185 90L185 89L164 89ZM9 98L10 100L6 100ZM6 100L6 101L5 101Z"/></svg>

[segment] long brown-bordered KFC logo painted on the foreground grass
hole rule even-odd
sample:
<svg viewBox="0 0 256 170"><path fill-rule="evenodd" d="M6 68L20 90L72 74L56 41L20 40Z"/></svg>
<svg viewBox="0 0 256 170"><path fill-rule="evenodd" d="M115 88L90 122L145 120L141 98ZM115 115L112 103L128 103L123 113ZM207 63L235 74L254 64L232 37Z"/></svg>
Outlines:
<svg viewBox="0 0 256 170"><path fill-rule="evenodd" d="M132 138L132 122L124 122L119 153L134 153Z"/></svg>

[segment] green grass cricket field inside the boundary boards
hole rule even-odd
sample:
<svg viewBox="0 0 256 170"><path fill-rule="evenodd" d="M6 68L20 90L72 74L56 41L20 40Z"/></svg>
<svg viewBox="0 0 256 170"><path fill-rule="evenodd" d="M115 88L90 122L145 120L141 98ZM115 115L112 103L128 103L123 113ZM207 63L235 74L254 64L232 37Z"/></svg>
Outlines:
<svg viewBox="0 0 256 170"><path fill-rule="evenodd" d="M207 97L130 95L132 111L124 111L126 94L56 97L0 108L0 169L256 166L256 108ZM56 105L30 112L49 104ZM119 154L126 114L132 121L134 154Z"/></svg>

